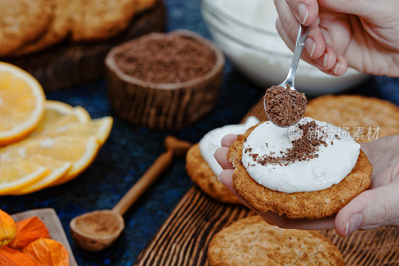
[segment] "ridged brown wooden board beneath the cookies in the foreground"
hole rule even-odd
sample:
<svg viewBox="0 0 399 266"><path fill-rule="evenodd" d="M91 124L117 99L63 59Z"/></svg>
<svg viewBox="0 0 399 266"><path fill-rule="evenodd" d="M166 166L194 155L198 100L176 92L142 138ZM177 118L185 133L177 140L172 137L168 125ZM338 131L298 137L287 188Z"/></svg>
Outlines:
<svg viewBox="0 0 399 266"><path fill-rule="evenodd" d="M263 99L245 116L265 120ZM246 207L221 204L193 186L181 199L135 266L207 266L209 241L223 227L253 215ZM339 248L347 266L399 265L399 228L356 231L347 238L334 229L320 230Z"/></svg>

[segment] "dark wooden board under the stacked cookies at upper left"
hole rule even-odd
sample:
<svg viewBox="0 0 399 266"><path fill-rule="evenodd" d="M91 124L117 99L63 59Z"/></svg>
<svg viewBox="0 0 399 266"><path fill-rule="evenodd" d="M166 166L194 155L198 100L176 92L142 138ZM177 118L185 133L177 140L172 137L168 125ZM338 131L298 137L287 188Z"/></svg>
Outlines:
<svg viewBox="0 0 399 266"><path fill-rule="evenodd" d="M104 58L108 50L122 42L153 32L164 31L166 8L163 0L137 14L128 28L106 41L63 42L38 53L19 58L1 58L32 74L45 91L88 83L104 76Z"/></svg>

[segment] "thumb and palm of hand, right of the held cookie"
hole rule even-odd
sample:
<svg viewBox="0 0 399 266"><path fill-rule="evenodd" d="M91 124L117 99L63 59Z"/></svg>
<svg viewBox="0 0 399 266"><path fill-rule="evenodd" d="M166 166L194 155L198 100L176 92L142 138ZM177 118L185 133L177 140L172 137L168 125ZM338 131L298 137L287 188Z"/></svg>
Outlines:
<svg viewBox="0 0 399 266"><path fill-rule="evenodd" d="M399 226L399 134L362 143L373 165L369 190L354 198L337 214L335 230L347 236L357 229Z"/></svg>

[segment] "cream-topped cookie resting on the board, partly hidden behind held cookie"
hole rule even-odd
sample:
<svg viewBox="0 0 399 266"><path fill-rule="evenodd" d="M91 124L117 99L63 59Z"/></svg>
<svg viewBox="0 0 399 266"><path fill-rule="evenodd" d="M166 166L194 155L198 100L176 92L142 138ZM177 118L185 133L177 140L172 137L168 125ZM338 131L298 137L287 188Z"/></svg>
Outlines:
<svg viewBox="0 0 399 266"><path fill-rule="evenodd" d="M249 117L244 124L227 125L206 133L199 143L193 145L186 155L186 169L193 182L200 189L223 203L240 204L240 201L228 188L217 180L223 170L213 157L222 137L226 134L241 134L259 123L255 117Z"/></svg>

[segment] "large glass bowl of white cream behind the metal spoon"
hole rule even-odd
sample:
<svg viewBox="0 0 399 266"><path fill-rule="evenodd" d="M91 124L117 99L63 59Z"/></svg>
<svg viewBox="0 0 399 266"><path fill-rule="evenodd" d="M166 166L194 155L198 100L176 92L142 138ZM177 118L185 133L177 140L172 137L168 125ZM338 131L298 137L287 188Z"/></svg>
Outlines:
<svg viewBox="0 0 399 266"><path fill-rule="evenodd" d="M242 0L239 1L243 3ZM263 1L273 4L272 0ZM228 4L237 4L236 2L237 0L229 0ZM274 7L272 8L265 10L264 15L269 15L275 21L273 16L277 14ZM201 12L213 40L245 76L265 88L278 85L286 78L292 51L285 46L275 30L265 30L248 24L240 20L239 16L233 16L219 8L215 0L202 0ZM270 47L271 43L281 47ZM309 96L315 96L343 91L367 77L367 74L352 68L341 77L333 77L301 60L295 75L295 87Z"/></svg>

